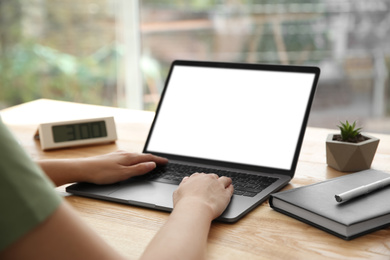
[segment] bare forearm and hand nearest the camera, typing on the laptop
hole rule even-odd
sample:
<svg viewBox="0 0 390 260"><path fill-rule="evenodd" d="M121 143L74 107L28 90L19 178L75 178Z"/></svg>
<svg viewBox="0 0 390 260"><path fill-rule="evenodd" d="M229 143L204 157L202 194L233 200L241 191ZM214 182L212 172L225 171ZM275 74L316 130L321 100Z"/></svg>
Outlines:
<svg viewBox="0 0 390 260"><path fill-rule="evenodd" d="M175 191L174 209L142 259L204 259L211 221L226 209L232 180L215 174L193 174Z"/></svg>

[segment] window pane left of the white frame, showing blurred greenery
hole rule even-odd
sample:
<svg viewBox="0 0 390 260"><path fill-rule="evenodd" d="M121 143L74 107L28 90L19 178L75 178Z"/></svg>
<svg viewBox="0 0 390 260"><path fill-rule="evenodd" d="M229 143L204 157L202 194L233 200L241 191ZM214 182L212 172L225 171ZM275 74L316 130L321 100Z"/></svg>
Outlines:
<svg viewBox="0 0 390 260"><path fill-rule="evenodd" d="M0 1L0 107L37 98L117 105L111 2Z"/></svg>

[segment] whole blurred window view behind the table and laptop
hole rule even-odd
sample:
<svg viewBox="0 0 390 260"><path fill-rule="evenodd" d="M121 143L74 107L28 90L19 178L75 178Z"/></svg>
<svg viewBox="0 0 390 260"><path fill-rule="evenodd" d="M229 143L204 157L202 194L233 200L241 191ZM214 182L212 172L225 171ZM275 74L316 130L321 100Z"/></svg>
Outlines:
<svg viewBox="0 0 390 260"><path fill-rule="evenodd" d="M318 66L309 126L390 133L389 0L0 0L0 109L154 111L175 59Z"/></svg>

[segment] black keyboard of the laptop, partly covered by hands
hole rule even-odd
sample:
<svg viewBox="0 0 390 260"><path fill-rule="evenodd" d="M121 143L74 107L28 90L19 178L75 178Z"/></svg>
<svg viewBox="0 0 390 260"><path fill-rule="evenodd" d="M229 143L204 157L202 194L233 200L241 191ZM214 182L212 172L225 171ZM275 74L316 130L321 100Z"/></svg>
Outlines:
<svg viewBox="0 0 390 260"><path fill-rule="evenodd" d="M256 196L258 193L277 180L277 178L273 177L175 163L168 163L164 166L158 166L150 173L142 176L142 178L156 182L180 184L184 177L190 176L195 172L215 173L218 176L230 177L234 185L234 194L247 197Z"/></svg>

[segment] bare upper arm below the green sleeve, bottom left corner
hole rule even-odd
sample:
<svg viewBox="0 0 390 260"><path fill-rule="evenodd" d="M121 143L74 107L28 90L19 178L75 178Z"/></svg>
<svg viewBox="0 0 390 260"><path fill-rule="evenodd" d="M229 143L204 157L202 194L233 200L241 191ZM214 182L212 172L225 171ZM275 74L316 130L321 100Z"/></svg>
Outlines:
<svg viewBox="0 0 390 260"><path fill-rule="evenodd" d="M124 259L63 201L39 226L0 252L0 259Z"/></svg>

